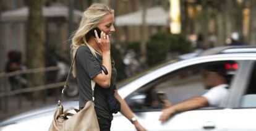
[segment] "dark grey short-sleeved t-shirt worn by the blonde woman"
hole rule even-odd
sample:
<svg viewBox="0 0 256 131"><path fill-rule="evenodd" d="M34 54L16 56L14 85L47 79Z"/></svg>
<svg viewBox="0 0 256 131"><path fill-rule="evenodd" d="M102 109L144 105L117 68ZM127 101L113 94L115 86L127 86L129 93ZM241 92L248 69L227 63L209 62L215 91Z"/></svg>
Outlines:
<svg viewBox="0 0 256 131"><path fill-rule="evenodd" d="M75 57L75 67L77 72L77 84L79 87L79 108L83 108L87 101L92 101L92 87L91 80L96 75L101 73L102 56L96 54L97 58L93 56L88 46L80 46L77 49L77 56ZM97 61L98 59L98 61ZM114 87L116 81L116 69L114 67L114 60L111 57L112 75L111 75L111 87ZM94 97L95 97L95 111L98 117L104 117L112 120L113 114L108 109L106 103L105 93L110 88L102 88L100 85L95 85Z"/></svg>

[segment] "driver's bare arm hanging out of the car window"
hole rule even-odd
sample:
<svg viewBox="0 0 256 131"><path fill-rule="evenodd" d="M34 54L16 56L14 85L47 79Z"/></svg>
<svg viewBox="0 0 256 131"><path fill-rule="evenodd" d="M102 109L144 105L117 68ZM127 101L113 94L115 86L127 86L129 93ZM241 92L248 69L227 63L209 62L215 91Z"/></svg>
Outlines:
<svg viewBox="0 0 256 131"><path fill-rule="evenodd" d="M170 108L163 109L163 113L161 114L159 120L161 122L166 122L169 117L173 116L177 112L189 111L192 109L203 108L208 106L209 103L206 98L203 96L198 96L194 98L187 99L178 104L173 104Z"/></svg>

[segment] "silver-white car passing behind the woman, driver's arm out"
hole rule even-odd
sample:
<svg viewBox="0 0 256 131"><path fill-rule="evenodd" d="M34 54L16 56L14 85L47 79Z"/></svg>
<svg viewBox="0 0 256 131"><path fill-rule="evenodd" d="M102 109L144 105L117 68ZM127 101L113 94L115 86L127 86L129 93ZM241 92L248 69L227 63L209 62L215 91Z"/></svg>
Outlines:
<svg viewBox="0 0 256 131"><path fill-rule="evenodd" d="M140 123L148 130L256 130L256 48L232 47L181 61L169 61L124 82L118 88ZM254 51L252 51L254 49ZM204 89L201 72L211 64L224 64L229 96L218 107L176 114L162 124L159 94L172 103L200 96ZM64 103L75 106L78 101ZM0 123L0 130L48 130L56 105L25 112ZM114 114L111 130L135 130L120 113Z"/></svg>

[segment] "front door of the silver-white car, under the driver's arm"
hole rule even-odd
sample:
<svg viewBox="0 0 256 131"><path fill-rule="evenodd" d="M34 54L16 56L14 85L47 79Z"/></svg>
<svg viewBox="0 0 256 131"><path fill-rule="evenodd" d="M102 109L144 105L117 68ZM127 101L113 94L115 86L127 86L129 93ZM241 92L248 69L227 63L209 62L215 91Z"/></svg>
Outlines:
<svg viewBox="0 0 256 131"><path fill-rule="evenodd" d="M201 96L207 92L202 83L203 66L209 64L239 64L239 61L214 61L194 64L174 70L153 80L134 91L125 99L135 112L142 125L148 130L224 130L226 124L226 104L220 107L207 107L176 114L168 122L162 124L158 119L163 105L158 94L165 94L172 103L179 103L193 96ZM237 69L230 70L230 82ZM229 87L231 90L232 87ZM224 101L228 101L226 98ZM224 102L223 102L224 103Z"/></svg>

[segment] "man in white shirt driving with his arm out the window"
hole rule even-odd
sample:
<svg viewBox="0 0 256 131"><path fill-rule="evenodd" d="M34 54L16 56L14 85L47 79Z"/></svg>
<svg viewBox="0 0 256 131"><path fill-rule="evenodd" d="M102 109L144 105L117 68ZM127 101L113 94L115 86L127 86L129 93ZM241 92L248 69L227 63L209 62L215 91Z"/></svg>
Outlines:
<svg viewBox="0 0 256 131"><path fill-rule="evenodd" d="M166 122L177 112L189 111L192 109L203 108L207 106L220 106L221 101L228 96L228 84L226 80L226 69L224 65L207 66L203 70L203 82L209 89L202 96L187 99L181 103L171 104L168 100L163 100L166 109L163 109L159 120Z"/></svg>

